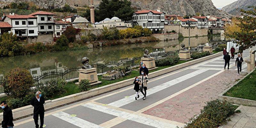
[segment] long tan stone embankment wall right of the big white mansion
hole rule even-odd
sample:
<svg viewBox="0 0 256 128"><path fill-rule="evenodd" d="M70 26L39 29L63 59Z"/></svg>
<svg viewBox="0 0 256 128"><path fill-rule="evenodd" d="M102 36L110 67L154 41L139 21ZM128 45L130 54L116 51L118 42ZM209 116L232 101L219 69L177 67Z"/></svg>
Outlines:
<svg viewBox="0 0 256 128"><path fill-rule="evenodd" d="M181 25L165 25L164 33L167 31L175 30L177 33L181 33L184 37L189 36L189 31L187 28L181 27ZM208 28L198 29L198 28L190 28L190 37L193 36L207 36Z"/></svg>

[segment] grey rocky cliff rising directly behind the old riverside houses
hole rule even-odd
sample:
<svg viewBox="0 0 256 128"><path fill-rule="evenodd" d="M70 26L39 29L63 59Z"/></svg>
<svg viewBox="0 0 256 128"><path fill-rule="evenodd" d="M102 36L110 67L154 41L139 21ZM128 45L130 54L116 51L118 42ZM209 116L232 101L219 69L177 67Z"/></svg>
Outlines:
<svg viewBox="0 0 256 128"><path fill-rule="evenodd" d="M90 0L0 0L2 6L6 3L18 1L32 1L38 6L48 7L54 5L55 7L63 6L65 3L74 6L89 5ZM227 17L228 14L219 11L211 0L130 0L132 6L137 10L160 10L167 14L180 14L180 15L195 15L199 12L202 15L216 15ZM95 6L100 3L100 0L94 0Z"/></svg>

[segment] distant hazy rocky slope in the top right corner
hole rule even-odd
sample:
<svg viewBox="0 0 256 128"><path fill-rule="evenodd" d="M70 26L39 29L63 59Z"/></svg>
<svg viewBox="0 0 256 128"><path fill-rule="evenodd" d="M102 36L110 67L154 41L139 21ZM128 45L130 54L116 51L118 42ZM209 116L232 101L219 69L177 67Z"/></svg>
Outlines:
<svg viewBox="0 0 256 128"><path fill-rule="evenodd" d="M234 3L228 4L227 6L223 7L222 10L232 15L240 15L240 10L247 10L248 6L256 6L256 0L238 0Z"/></svg>

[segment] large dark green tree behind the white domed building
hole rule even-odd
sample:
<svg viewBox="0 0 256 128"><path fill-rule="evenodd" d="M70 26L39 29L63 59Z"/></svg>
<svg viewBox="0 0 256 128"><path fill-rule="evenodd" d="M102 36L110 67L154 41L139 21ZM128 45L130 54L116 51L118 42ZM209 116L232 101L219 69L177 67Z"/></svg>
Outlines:
<svg viewBox="0 0 256 128"><path fill-rule="evenodd" d="M99 7L95 9L95 21L101 21L114 16L124 21L131 20L134 13L131 4L128 0L102 0ZM90 9L87 9L83 15L90 19Z"/></svg>

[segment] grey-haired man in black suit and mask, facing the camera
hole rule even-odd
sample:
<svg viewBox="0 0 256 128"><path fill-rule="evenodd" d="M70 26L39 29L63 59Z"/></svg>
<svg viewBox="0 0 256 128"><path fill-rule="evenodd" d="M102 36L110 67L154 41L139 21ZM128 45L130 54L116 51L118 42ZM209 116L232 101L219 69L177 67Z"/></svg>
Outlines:
<svg viewBox="0 0 256 128"><path fill-rule="evenodd" d="M36 92L36 96L31 100L31 105L34 106L34 121L36 128L39 128L38 125L38 115L40 116L40 128L43 128L44 125L44 97L40 91Z"/></svg>

